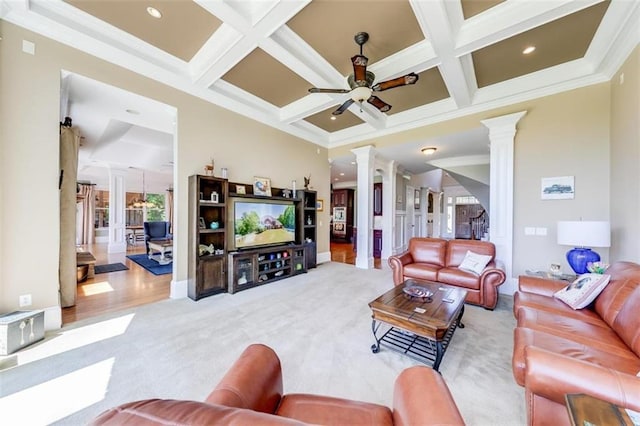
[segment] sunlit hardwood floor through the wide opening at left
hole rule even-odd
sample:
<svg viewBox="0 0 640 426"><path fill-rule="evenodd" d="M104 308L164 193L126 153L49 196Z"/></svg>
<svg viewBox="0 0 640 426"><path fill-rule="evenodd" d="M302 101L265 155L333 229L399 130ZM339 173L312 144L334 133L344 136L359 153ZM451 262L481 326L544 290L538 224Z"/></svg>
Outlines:
<svg viewBox="0 0 640 426"><path fill-rule="evenodd" d="M107 244L83 246L96 258L96 265L123 263L129 270L96 274L78 283L76 305L62 309L62 324L140 306L169 298L171 274L153 275L127 259L129 254L145 253L144 243L127 246L126 253L107 253Z"/></svg>

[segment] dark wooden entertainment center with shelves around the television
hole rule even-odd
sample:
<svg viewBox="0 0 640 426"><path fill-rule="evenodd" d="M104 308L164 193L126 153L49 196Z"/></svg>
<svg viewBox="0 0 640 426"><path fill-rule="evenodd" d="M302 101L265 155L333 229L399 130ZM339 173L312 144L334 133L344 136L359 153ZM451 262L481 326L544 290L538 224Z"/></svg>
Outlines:
<svg viewBox="0 0 640 426"><path fill-rule="evenodd" d="M292 203L295 241L235 249L236 201ZM316 266L317 194L310 190L271 188L255 195L253 185L213 176L189 176L188 295L193 300L267 284ZM212 225L213 223L213 225Z"/></svg>

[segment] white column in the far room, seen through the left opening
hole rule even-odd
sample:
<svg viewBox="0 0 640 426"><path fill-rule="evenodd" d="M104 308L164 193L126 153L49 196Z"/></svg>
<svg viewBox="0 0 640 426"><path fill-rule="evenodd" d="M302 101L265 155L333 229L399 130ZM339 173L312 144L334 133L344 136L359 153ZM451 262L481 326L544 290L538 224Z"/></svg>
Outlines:
<svg viewBox="0 0 640 426"><path fill-rule="evenodd" d="M125 169L109 169L109 253L127 251L126 233L126 177Z"/></svg>

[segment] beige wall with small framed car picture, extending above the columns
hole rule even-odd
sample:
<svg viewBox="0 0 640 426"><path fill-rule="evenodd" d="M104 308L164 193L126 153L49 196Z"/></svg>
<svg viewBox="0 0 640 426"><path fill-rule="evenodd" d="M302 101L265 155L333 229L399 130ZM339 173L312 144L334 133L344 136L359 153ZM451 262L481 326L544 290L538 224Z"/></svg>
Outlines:
<svg viewBox="0 0 640 426"><path fill-rule="evenodd" d="M637 116L637 104L633 108ZM462 132L481 126L480 120L486 118L527 111L518 123L514 149L513 274L517 276L532 268L547 269L551 263L560 263L564 271L570 272L565 259L570 247L557 245L557 222L610 219L610 109L610 85L598 84L359 142L357 146L371 143L382 147ZM636 144L637 141L636 138ZM621 141L619 150L624 152L632 143L627 139ZM354 146L332 149L329 156L344 155ZM637 153L637 147L633 149ZM635 164L637 169L637 161ZM553 176L575 177L573 200L540 199L540 179ZM633 197L637 203L637 186L634 191L624 197ZM611 195L616 197L612 198L612 204L624 200ZM524 227L528 226L547 228L547 236L525 236ZM619 232L637 229L635 223L626 219L612 223L612 227ZM637 238L638 233L631 235ZM603 260L610 260L609 249L596 251ZM640 261L637 255L635 261Z"/></svg>

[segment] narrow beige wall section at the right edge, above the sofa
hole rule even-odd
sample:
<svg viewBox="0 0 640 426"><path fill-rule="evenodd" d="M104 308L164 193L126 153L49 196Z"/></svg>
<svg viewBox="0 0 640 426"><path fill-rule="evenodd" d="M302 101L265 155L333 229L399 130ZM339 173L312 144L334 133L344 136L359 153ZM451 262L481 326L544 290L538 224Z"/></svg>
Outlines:
<svg viewBox="0 0 640 426"><path fill-rule="evenodd" d="M611 258L640 262L640 47L611 79L610 200Z"/></svg>

